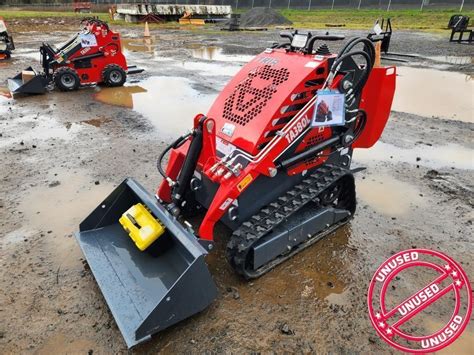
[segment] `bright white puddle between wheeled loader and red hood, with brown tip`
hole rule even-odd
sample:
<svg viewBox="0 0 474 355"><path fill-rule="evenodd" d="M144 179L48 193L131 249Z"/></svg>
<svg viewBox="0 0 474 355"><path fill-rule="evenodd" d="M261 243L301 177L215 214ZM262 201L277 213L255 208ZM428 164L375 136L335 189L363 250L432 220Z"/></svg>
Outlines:
<svg viewBox="0 0 474 355"><path fill-rule="evenodd" d="M129 93L129 87L100 89L95 98L103 103L125 106L116 92L129 93L129 108L145 116L160 134L175 136L190 129L194 117L207 113L217 94L202 94L193 82L182 77L151 77L140 82L141 90ZM121 95L121 94L120 94Z"/></svg>

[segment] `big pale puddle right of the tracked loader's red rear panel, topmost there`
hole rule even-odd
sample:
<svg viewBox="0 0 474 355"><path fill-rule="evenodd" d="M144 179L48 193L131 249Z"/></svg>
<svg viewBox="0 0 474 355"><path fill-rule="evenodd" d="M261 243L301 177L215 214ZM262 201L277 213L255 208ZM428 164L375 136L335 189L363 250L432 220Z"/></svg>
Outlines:
<svg viewBox="0 0 474 355"><path fill-rule="evenodd" d="M403 66L397 73L392 110L474 122L474 81L470 76Z"/></svg>

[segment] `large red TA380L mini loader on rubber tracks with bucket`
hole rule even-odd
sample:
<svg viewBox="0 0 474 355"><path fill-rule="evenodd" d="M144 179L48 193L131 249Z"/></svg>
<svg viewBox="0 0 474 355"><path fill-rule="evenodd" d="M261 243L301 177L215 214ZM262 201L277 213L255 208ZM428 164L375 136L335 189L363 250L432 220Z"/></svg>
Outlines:
<svg viewBox="0 0 474 355"><path fill-rule="evenodd" d="M343 37L282 37L195 117L192 133L161 153L155 196L128 178L80 225L78 242L129 347L215 298L204 256L217 222L233 231L230 265L252 279L354 215L352 151L379 139L395 68L373 68L366 38L335 55L321 42ZM321 123L322 93L332 120ZM197 213L204 216L193 226L187 217Z"/></svg>

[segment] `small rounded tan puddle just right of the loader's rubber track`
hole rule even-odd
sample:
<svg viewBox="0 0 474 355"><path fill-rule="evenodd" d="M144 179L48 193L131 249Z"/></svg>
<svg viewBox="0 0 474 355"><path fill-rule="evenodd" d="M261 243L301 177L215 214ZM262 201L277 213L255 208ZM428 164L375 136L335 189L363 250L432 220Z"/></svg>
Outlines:
<svg viewBox="0 0 474 355"><path fill-rule="evenodd" d="M413 207L424 205L420 191L390 175L367 176L357 181L357 197L375 211L390 217L403 216Z"/></svg>

